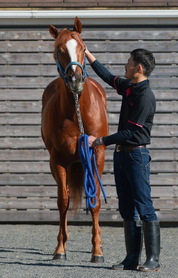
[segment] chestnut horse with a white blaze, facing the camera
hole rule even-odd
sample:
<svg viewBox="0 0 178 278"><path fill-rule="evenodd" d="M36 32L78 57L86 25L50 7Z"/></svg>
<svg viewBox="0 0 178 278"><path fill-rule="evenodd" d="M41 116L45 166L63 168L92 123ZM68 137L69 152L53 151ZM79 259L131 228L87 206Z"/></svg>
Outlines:
<svg viewBox="0 0 178 278"><path fill-rule="evenodd" d="M54 59L59 55L63 69L72 61L78 61L84 67L85 45L80 37L81 22L76 17L74 29L67 28L58 31L49 25L49 32L55 38ZM62 72L60 72L62 76ZM81 200L84 170L79 157L80 129L76 114L73 93L78 94L81 119L84 132L96 137L108 135L106 95L101 85L92 78L84 78L81 67L72 65L66 74L68 87L63 78L52 81L44 90L42 96L42 123L41 132L46 148L50 154L51 173L58 185L58 209L60 214L60 228L58 245L53 259L66 259L67 210L69 199L73 201L76 211ZM97 168L101 177L105 146L95 148ZM104 261L101 246L101 229L98 223L98 214L101 206L100 186L97 182L97 206L90 208L92 215L92 258L91 262Z"/></svg>

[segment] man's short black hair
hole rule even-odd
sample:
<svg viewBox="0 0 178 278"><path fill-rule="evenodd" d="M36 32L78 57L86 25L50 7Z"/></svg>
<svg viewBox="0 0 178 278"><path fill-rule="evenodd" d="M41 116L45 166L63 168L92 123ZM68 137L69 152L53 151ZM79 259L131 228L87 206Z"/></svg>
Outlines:
<svg viewBox="0 0 178 278"><path fill-rule="evenodd" d="M149 76L155 68L155 58L151 51L138 48L134 49L130 55L133 57L135 66L142 65L144 76Z"/></svg>

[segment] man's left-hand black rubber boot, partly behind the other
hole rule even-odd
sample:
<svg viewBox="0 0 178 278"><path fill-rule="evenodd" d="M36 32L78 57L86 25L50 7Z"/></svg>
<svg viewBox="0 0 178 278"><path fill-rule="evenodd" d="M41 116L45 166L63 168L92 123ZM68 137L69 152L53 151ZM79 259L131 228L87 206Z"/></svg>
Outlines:
<svg viewBox="0 0 178 278"><path fill-rule="evenodd" d="M112 269L132 270L141 266L143 246L143 223L141 220L124 220L125 247L127 255L120 264L114 264Z"/></svg>

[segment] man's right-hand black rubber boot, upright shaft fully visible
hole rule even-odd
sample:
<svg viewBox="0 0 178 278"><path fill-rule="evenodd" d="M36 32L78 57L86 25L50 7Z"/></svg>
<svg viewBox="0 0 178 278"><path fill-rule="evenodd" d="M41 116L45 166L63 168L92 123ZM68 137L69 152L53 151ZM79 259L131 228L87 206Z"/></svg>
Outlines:
<svg viewBox="0 0 178 278"><path fill-rule="evenodd" d="M143 231L147 260L138 271L160 271L160 222L143 221Z"/></svg>

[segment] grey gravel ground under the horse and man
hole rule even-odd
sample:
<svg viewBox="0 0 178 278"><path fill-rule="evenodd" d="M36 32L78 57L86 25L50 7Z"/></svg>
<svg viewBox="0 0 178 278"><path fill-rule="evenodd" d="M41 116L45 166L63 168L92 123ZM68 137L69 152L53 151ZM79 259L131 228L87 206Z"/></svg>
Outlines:
<svg viewBox="0 0 178 278"><path fill-rule="evenodd" d="M111 270L125 257L123 228L101 227L105 262L90 263L91 226L68 226L67 260L52 261L58 226L0 225L0 277L2 278L99 278L178 277L178 228L161 228L161 271ZM145 261L145 249L142 262Z"/></svg>

